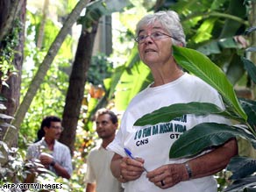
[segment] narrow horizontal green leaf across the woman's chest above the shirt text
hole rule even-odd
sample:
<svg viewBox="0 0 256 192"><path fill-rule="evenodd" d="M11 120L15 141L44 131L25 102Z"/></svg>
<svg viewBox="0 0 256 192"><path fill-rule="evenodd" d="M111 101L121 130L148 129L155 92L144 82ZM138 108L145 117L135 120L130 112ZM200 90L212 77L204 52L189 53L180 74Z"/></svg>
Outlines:
<svg viewBox="0 0 256 192"><path fill-rule="evenodd" d="M162 107L159 110L154 110L152 113L148 113L143 117L140 117L134 125L144 126L146 124L158 124L160 122L169 122L174 117L181 117L185 114L195 115L207 115L218 114L224 117L230 117L238 121L242 121L242 118L232 116L228 111L220 109L213 103L176 103L167 107Z"/></svg>

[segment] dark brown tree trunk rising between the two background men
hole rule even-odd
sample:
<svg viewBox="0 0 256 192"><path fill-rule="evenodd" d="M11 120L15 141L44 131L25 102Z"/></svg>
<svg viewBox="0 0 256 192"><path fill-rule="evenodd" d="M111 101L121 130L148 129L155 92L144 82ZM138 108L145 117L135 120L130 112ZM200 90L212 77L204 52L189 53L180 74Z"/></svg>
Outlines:
<svg viewBox="0 0 256 192"><path fill-rule="evenodd" d="M60 142L67 145L70 148L72 154L75 149L76 127L82 106L86 73L88 71L92 56L97 26L98 23L94 23L91 26L91 32L87 32L85 29L82 30L75 54L75 61L69 79L66 105L62 117L62 125L64 127L64 131L60 136Z"/></svg>

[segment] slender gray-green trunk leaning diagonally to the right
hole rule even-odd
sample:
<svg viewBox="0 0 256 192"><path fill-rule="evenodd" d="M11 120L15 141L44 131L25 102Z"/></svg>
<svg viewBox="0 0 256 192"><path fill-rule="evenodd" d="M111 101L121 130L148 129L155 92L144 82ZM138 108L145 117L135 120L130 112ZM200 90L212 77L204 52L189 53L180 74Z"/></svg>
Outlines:
<svg viewBox="0 0 256 192"><path fill-rule="evenodd" d="M75 21L80 17L80 13L83 10L83 8L85 8L86 4L88 4L88 0L81 0L76 4L75 9L70 13L66 22L62 26L59 34L57 35L56 39L53 41L52 46L50 46L45 59L39 66L39 70L37 74L34 76L32 83L29 89L27 90L22 103L18 107L18 110L15 114L15 119L13 120L12 125L14 125L17 129L19 129L19 126L25 117L25 113L29 109L29 106L32 103L32 99L36 95L36 92L39 89L41 82L43 82L46 72L50 68L55 55L58 53L61 44L68 35L69 29L72 27L72 25L75 24ZM8 146L12 146L12 139L15 138L16 135L17 130L14 130L11 127L9 127L7 132L5 132L4 134L4 142Z"/></svg>

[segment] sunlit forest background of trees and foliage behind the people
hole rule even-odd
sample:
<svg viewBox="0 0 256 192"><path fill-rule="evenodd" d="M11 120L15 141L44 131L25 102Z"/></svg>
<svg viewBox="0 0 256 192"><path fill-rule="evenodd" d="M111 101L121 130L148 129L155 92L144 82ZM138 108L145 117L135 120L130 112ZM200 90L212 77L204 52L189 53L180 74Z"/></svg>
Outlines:
<svg viewBox="0 0 256 192"><path fill-rule="evenodd" d="M254 84L238 58L255 63L255 55L245 52L255 45L255 35L245 35L255 26L255 1L37 2L0 4L2 182L24 180L24 166L32 167L25 161L27 145L36 139L42 118L53 114L63 119L60 141L72 151L75 167L72 179L61 182L82 191L84 162L97 141L95 111L107 107L121 117L132 97L152 81L133 40L134 24L150 11L177 11L187 46L222 68L238 96L254 99ZM100 52L99 25L108 25L111 34L103 32L108 46ZM44 174L36 179L46 178L58 181Z"/></svg>

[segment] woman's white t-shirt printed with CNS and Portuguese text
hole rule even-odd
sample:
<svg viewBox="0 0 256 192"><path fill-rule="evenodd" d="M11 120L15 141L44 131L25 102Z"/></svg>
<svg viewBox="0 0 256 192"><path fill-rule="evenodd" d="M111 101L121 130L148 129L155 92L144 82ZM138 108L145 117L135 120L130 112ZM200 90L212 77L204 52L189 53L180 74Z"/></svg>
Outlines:
<svg viewBox="0 0 256 192"><path fill-rule="evenodd" d="M214 103L224 108L221 96L207 83L194 75L185 73L174 82L141 91L132 99L121 120L116 138L107 147L108 150L125 156L124 147L131 150L133 156L145 160L145 167L152 171L165 164L182 163L187 160L169 159L169 150L174 141L186 130L203 122L229 124L224 117L217 115L195 116L184 115L171 122L133 126L136 120L147 113L174 103ZM203 166L203 165L202 165ZM207 176L190 181L182 181L173 188L161 189L146 178L144 172L136 181L124 183L125 192L216 192L217 181L213 176Z"/></svg>

